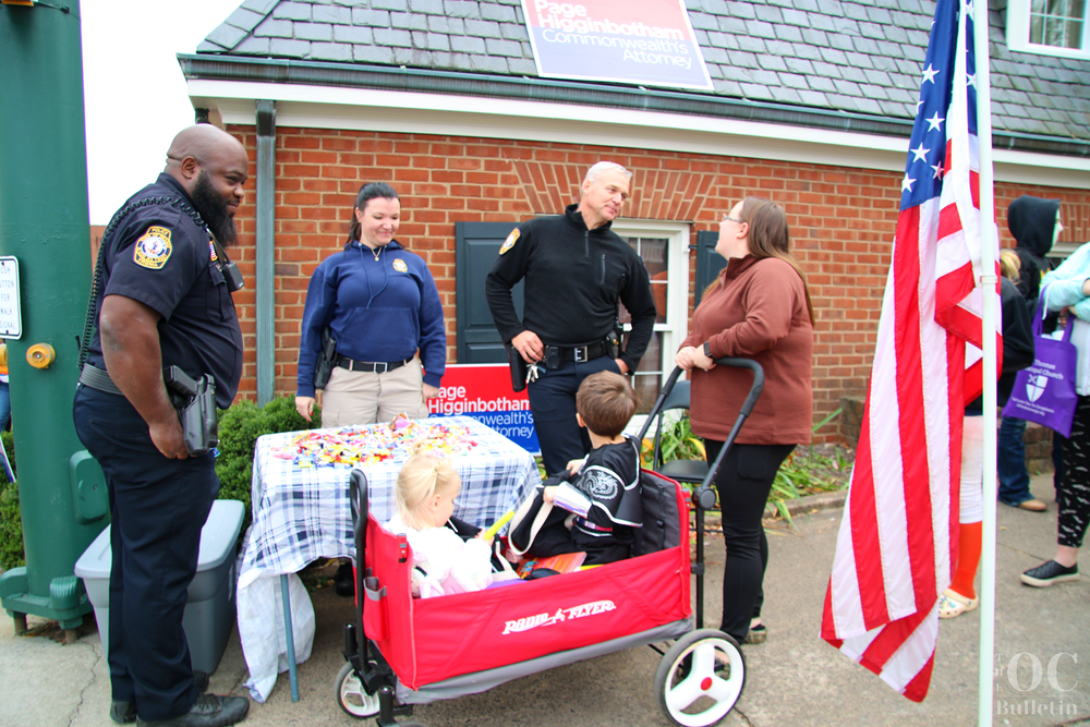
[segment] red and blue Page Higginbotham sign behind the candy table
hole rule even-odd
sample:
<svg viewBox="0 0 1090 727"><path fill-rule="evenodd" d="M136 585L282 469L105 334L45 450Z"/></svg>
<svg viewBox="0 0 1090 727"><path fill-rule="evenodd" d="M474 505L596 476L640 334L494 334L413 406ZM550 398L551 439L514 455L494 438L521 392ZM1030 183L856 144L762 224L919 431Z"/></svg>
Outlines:
<svg viewBox="0 0 1090 727"><path fill-rule="evenodd" d="M531 455L541 453L530 398L525 389L511 391L507 364L448 364L427 409L429 416L472 416Z"/></svg>

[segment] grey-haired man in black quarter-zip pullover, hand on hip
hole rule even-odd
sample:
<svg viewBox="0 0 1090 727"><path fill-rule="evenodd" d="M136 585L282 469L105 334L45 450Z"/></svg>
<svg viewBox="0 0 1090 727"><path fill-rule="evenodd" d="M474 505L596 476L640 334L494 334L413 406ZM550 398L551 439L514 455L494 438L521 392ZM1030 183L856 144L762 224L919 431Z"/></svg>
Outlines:
<svg viewBox="0 0 1090 727"><path fill-rule="evenodd" d="M629 196L632 172L611 161L591 167L578 205L511 231L485 290L504 341L530 364L530 410L545 472L565 470L591 449L576 422L576 391L600 371L630 374L640 365L655 325L655 301L643 260L609 229ZM526 280L524 320L511 288ZM616 338L618 301L632 316L628 346ZM611 355L610 355L611 354Z"/></svg>

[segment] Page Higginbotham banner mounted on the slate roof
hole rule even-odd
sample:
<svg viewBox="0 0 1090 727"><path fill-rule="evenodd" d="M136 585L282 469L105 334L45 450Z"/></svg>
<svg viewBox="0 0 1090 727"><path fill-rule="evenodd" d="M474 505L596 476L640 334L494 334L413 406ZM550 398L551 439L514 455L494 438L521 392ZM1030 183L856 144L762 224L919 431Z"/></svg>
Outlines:
<svg viewBox="0 0 1090 727"><path fill-rule="evenodd" d="M522 0L537 73L712 89L685 0Z"/></svg>

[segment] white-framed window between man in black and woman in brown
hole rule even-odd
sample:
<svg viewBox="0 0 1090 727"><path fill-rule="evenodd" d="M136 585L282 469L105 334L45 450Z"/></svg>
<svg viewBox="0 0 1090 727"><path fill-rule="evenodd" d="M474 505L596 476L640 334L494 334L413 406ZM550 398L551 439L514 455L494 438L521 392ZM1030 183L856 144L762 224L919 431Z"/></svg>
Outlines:
<svg viewBox="0 0 1090 727"><path fill-rule="evenodd" d="M632 385L640 395L637 413L646 414L658 398L666 376L674 371L674 352L689 332L689 225L621 219L614 222L613 230L628 240L643 258L658 308L647 352L632 377ZM623 305L619 316L625 325L627 344L632 326ZM642 416L638 417L629 428L634 431L642 421Z"/></svg>

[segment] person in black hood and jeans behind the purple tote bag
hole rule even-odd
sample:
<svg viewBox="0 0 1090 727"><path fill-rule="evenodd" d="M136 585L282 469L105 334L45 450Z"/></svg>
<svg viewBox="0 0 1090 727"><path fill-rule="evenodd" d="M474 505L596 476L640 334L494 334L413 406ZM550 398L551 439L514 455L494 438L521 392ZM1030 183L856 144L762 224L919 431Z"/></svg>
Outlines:
<svg viewBox="0 0 1090 727"><path fill-rule="evenodd" d="M1038 298L1041 294L1041 278L1052 269L1052 264L1045 255L1052 250L1056 238L1064 229L1059 222L1059 201L1041 199L1022 195L1010 203L1007 208L1007 227L1015 237L1017 245L1014 252L1020 263L1018 269L1018 292L1026 299L1030 320L1037 313ZM1004 303L1004 308L1006 304ZM1004 310L1006 313L1006 310ZM1055 319L1045 320L1045 331L1055 327ZM1000 476L998 499L1004 505L1021 508L1031 512L1044 512L1047 506L1033 497L1029 492L1029 471L1026 469L1026 445L1022 437L1026 434L1026 422L1020 419L1004 416L1000 425L997 444ZM1054 456L1061 450L1054 435ZM1057 473L1063 469L1063 462L1056 462Z"/></svg>

